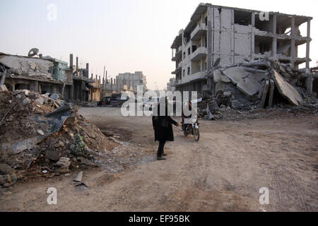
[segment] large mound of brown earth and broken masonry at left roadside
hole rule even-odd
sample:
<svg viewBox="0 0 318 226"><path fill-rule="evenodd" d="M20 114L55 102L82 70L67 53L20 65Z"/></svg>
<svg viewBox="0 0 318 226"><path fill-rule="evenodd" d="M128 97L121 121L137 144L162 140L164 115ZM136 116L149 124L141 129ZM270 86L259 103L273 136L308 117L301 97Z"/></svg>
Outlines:
<svg viewBox="0 0 318 226"><path fill-rule="evenodd" d="M117 147L58 94L0 92L0 186L97 165Z"/></svg>

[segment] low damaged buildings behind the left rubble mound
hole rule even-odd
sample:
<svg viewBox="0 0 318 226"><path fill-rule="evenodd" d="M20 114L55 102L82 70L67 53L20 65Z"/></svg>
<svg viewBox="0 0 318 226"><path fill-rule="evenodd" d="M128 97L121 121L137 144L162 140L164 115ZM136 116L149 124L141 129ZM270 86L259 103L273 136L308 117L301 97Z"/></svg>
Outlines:
<svg viewBox="0 0 318 226"><path fill-rule="evenodd" d="M99 101L100 79L88 76L86 69L73 65L70 54L69 65L65 61L52 57L25 57L0 53L0 67L5 74L3 81L8 90L31 90L37 93L59 93L64 100L81 102ZM4 73L5 72L5 73Z"/></svg>

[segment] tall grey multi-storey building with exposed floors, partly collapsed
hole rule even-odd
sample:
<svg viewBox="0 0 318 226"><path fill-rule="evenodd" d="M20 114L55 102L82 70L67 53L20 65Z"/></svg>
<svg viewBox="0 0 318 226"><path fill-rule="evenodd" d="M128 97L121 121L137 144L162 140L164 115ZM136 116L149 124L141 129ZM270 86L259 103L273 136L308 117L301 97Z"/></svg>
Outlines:
<svg viewBox="0 0 318 226"><path fill-rule="evenodd" d="M171 46L176 89L201 93L207 87L215 94L216 84L209 75L216 66L265 58L293 69L305 63L305 72L310 73L311 20L308 16L199 4ZM307 33L301 35L299 28L304 23ZM299 57L302 44L306 52ZM312 85L307 82L307 86Z"/></svg>

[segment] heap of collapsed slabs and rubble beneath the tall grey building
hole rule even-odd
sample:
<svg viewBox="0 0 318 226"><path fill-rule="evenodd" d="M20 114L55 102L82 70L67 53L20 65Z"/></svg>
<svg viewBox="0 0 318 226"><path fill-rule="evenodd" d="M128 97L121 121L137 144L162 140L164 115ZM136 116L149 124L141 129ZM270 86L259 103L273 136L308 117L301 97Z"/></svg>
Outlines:
<svg viewBox="0 0 318 226"><path fill-rule="evenodd" d="M317 94L305 89L312 81L312 74L288 64L260 59L224 68L218 66L209 74L216 95L204 90L202 101L198 102L199 117L232 118L233 114L246 117L259 108L317 113Z"/></svg>

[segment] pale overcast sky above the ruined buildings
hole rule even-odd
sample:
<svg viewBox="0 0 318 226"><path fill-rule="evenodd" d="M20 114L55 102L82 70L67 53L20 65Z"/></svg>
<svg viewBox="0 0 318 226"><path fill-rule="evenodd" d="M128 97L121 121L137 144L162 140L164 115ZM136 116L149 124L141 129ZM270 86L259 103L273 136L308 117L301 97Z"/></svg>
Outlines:
<svg viewBox="0 0 318 226"><path fill-rule="evenodd" d="M172 41L185 28L202 0L1 0L0 52L26 55L37 47L44 56L69 62L79 57L80 66L90 64L90 73L108 77L143 71L148 88L163 89L175 64ZM318 54L317 1L205 1L221 6L312 16L311 66ZM57 6L57 18L48 9ZM51 18L51 19L50 19ZM306 29L300 28L302 35ZM305 57L305 45L300 48ZM75 59L74 59L75 60ZM75 61L74 61L75 62Z"/></svg>

